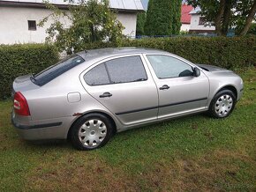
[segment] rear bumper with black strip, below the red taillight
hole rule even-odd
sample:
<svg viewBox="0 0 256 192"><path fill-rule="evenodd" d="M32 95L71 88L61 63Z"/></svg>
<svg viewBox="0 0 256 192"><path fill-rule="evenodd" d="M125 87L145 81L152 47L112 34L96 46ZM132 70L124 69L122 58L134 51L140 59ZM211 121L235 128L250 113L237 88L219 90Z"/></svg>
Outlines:
<svg viewBox="0 0 256 192"><path fill-rule="evenodd" d="M48 140L48 139L66 139L69 127L67 122L59 121L60 119L48 120L48 122L26 121L11 114L11 122L16 128L19 137L25 140Z"/></svg>

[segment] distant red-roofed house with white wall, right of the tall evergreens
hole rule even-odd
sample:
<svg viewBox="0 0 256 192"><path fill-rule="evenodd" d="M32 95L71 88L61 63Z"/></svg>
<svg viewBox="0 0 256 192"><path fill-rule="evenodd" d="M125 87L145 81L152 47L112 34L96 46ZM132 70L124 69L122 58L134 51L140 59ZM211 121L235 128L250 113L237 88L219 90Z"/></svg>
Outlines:
<svg viewBox="0 0 256 192"><path fill-rule="evenodd" d="M181 7L181 27L180 31L183 32L188 32L190 30L190 24L191 24L191 14L190 12L192 11L192 5L188 4L182 4Z"/></svg>

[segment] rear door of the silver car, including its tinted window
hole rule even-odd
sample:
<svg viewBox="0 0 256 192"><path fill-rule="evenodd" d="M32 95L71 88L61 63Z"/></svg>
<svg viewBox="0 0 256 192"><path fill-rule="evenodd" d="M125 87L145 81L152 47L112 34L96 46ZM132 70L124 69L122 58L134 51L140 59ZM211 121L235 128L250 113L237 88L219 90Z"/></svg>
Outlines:
<svg viewBox="0 0 256 192"><path fill-rule="evenodd" d="M117 56L83 74L87 92L125 125L157 118L158 93L140 55Z"/></svg>

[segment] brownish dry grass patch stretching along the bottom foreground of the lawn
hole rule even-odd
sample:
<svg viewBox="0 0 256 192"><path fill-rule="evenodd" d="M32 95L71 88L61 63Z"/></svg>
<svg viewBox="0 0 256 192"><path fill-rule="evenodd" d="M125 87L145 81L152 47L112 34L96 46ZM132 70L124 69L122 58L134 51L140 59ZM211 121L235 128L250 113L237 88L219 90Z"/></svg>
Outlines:
<svg viewBox="0 0 256 192"><path fill-rule="evenodd" d="M77 159L77 155L84 159ZM47 154L49 159L49 154ZM56 159L56 158L54 158ZM255 163L237 151L217 150L193 159L163 159L138 174L109 166L87 153L75 153L41 163L26 181L35 191L224 191L245 189L234 161ZM248 187L248 186L247 186ZM252 189L252 186L249 186ZM249 188L249 189L250 189ZM247 188L248 189L248 188Z"/></svg>

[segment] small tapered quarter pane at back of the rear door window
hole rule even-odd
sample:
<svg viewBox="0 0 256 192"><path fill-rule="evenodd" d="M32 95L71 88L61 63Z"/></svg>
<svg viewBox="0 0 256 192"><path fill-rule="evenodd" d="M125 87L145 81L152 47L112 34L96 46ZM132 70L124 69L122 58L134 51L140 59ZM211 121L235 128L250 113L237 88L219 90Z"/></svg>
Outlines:
<svg viewBox="0 0 256 192"><path fill-rule="evenodd" d="M89 70L84 76L84 79L87 85L108 85L110 81L105 63L99 64L92 70Z"/></svg>

